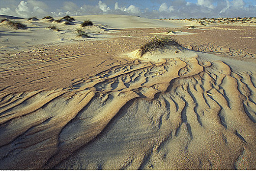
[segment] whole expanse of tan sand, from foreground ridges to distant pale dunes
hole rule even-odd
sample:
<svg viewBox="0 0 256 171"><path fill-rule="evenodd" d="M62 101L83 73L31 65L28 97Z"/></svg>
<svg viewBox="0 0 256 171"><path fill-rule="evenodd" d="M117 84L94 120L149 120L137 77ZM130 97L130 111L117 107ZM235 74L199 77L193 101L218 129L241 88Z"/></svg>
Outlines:
<svg viewBox="0 0 256 171"><path fill-rule="evenodd" d="M74 18L0 23L0 169L256 169L254 18Z"/></svg>

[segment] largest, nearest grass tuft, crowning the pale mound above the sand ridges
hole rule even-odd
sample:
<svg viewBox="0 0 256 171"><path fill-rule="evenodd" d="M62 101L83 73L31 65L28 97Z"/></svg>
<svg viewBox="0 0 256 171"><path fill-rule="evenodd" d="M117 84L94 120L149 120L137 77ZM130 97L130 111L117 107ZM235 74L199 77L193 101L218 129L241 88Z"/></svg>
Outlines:
<svg viewBox="0 0 256 171"><path fill-rule="evenodd" d="M144 54L146 54L149 51L155 50L155 49L163 49L164 47L167 47L169 45L176 45L180 46L175 40L173 40L171 37L164 37L164 38L153 38L148 43L143 44L139 49L139 55L142 57Z"/></svg>

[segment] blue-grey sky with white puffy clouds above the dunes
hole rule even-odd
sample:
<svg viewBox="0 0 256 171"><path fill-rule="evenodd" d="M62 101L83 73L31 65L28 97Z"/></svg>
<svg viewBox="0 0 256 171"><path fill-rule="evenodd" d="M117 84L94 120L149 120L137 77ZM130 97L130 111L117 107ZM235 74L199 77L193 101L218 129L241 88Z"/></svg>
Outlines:
<svg viewBox="0 0 256 171"><path fill-rule="evenodd" d="M0 15L40 18L96 14L149 19L256 17L256 0L0 0Z"/></svg>

